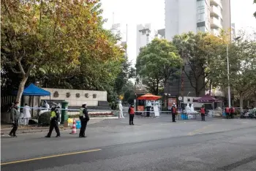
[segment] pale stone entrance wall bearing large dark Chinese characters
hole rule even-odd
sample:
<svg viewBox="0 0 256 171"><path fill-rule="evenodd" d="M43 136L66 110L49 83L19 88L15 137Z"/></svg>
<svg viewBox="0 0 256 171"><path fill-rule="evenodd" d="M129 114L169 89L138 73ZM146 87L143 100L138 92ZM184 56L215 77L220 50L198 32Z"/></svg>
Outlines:
<svg viewBox="0 0 256 171"><path fill-rule="evenodd" d="M72 89L60 89L60 88L43 88L46 91L50 91L51 100L66 100L69 102L69 106L81 106L83 102L87 102L88 106L97 106L98 101L107 101L107 91L86 91L86 90L72 90ZM53 94L58 91L59 97L54 97ZM67 97L67 93L70 96ZM76 97L75 94L80 94L80 97ZM85 94L89 94L89 98L86 98ZM97 98L93 98L93 94L97 94ZM49 96L42 96L41 99L49 99Z"/></svg>

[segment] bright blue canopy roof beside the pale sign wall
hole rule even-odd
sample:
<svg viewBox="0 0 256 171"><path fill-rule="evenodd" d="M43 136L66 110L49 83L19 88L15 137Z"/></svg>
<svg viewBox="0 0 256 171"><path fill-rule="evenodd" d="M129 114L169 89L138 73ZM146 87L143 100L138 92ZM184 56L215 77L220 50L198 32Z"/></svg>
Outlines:
<svg viewBox="0 0 256 171"><path fill-rule="evenodd" d="M17 94L18 91L14 91L13 94ZM34 84L30 84L23 91L23 96L50 96L49 91L45 91L42 88L35 86Z"/></svg>

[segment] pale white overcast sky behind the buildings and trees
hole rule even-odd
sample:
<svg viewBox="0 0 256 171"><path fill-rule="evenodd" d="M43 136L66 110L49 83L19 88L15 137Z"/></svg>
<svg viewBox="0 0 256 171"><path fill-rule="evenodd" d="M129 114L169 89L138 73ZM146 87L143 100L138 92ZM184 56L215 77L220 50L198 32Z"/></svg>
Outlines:
<svg viewBox="0 0 256 171"><path fill-rule="evenodd" d="M192 1L192 0L189 0ZM223 0L225 1L225 0ZM253 0L231 0L231 20L236 23L236 29L252 31L256 29L256 11ZM102 0L103 18L107 18L105 28L113 23L121 23L121 32L126 40L126 25L128 25L128 56L135 64L136 60L136 25L151 23L155 28L165 28L165 0Z"/></svg>

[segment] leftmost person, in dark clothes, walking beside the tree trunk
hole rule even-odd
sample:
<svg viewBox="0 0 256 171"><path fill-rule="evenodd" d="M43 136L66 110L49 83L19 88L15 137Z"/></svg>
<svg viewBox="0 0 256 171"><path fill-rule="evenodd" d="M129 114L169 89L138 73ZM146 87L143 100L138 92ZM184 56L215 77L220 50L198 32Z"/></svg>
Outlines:
<svg viewBox="0 0 256 171"><path fill-rule="evenodd" d="M15 102L15 104L11 108L11 121L12 121L12 131L10 132L10 137L17 137L16 131L18 129L18 121L20 118L20 113L18 112L18 102Z"/></svg>

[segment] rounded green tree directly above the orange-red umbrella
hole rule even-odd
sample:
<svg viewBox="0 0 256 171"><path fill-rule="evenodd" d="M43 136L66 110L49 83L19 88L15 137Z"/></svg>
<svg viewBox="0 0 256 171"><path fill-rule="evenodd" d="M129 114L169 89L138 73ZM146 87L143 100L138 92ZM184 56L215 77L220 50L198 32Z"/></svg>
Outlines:
<svg viewBox="0 0 256 171"><path fill-rule="evenodd" d="M154 39L141 48L136 69L137 74L143 77L148 90L159 94L159 88L165 86L171 76L179 74L178 70L182 64L183 61L172 42Z"/></svg>

